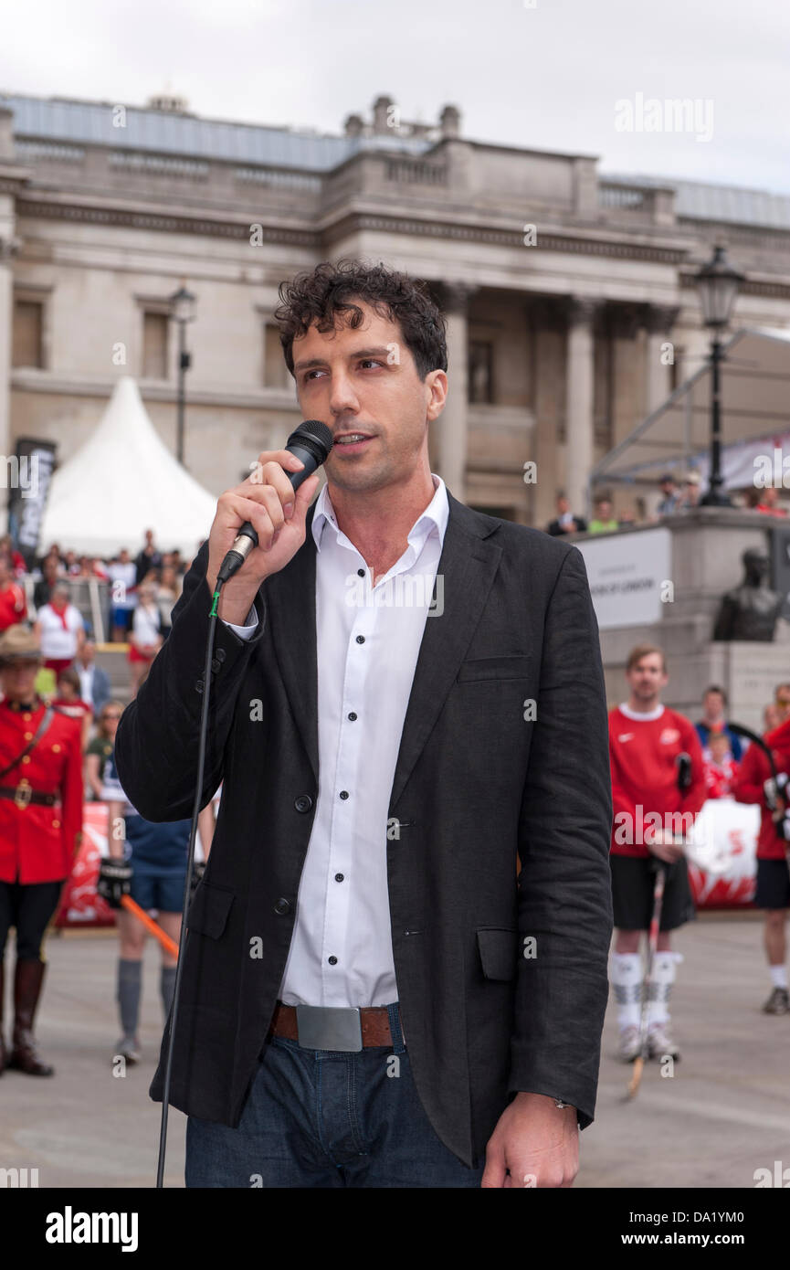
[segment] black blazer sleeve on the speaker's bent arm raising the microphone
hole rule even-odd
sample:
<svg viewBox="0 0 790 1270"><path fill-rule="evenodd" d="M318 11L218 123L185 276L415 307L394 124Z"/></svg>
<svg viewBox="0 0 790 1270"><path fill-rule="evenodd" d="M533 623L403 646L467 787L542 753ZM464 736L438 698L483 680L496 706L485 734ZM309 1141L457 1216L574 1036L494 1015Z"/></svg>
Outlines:
<svg viewBox="0 0 790 1270"><path fill-rule="evenodd" d="M146 820L183 820L192 815L211 611L207 561L208 542L204 542L173 610L170 635L154 658L136 698L123 711L116 734L121 784L130 803ZM263 591L258 592L254 607L258 626L246 641L220 617L215 618L201 806L210 801L222 780L239 688L265 627Z"/></svg>

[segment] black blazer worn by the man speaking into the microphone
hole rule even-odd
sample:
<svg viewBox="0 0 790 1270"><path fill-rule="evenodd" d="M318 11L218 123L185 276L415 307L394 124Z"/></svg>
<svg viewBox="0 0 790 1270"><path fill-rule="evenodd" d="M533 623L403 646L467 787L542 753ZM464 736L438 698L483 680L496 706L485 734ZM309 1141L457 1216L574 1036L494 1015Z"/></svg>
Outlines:
<svg viewBox="0 0 790 1270"><path fill-rule="evenodd" d="M593 1118L612 805L580 552L448 499L443 613L425 621L390 798L399 829L381 850L417 1088L438 1137L472 1165L513 1091L564 1099L582 1128ZM188 914L170 1102L231 1126L277 999L315 815L314 511L302 547L258 592L254 638L216 631L202 805L225 784ZM149 820L192 813L207 550L118 726L121 782ZM164 1053L163 1040L157 1101Z"/></svg>

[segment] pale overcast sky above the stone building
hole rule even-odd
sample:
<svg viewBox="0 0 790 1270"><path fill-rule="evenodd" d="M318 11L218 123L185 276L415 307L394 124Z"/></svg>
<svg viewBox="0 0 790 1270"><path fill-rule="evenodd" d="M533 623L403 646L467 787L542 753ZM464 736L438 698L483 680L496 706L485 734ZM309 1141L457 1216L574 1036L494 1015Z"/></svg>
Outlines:
<svg viewBox="0 0 790 1270"><path fill-rule="evenodd" d="M5 6L0 48L5 93L169 88L196 114L334 133L386 93L405 119L455 103L474 140L790 194L789 83L787 0L36 0ZM639 94L696 122L653 108L636 131Z"/></svg>

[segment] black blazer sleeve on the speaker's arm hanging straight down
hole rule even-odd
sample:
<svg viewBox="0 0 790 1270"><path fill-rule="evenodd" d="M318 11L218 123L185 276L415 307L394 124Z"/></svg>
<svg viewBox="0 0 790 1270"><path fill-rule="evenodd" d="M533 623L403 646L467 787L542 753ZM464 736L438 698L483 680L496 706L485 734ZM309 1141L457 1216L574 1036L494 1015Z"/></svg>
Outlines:
<svg viewBox="0 0 790 1270"><path fill-rule="evenodd" d="M594 1114L612 933L612 794L598 627L569 547L547 605L519 820L518 958L509 1090ZM535 942L523 941L532 936Z"/></svg>

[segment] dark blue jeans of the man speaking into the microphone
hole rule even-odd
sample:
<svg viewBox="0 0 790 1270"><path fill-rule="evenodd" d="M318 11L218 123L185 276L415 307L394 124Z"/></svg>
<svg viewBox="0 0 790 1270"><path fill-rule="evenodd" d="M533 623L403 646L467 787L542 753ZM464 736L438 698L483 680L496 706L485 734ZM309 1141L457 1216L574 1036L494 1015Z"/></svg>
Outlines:
<svg viewBox="0 0 790 1270"><path fill-rule="evenodd" d="M423 1111L398 1007L390 1025L352 1054L272 1038L236 1129L189 1116L187 1186L479 1187Z"/></svg>

